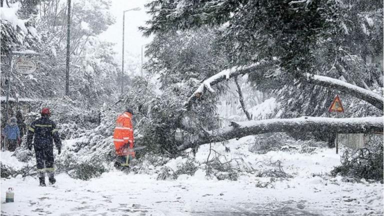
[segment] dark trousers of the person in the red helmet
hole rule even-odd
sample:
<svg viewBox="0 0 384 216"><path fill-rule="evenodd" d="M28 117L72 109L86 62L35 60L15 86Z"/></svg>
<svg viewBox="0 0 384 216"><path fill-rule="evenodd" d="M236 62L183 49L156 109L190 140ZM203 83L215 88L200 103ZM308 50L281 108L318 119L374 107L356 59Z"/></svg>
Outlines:
<svg viewBox="0 0 384 216"><path fill-rule="evenodd" d="M53 177L53 145L34 145L34 152L36 153L36 167L39 176L43 177L45 175L45 171L47 171L48 176Z"/></svg>

